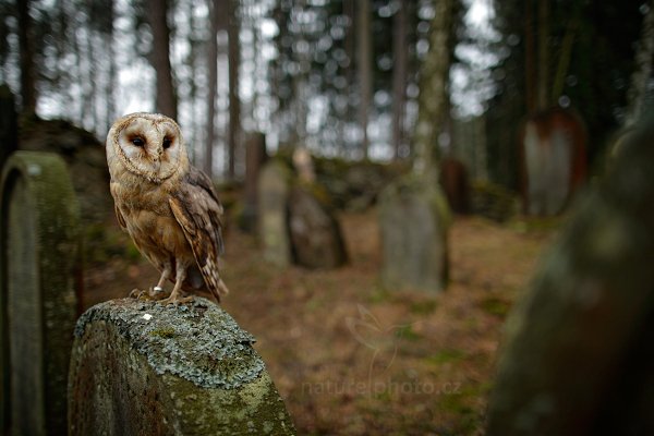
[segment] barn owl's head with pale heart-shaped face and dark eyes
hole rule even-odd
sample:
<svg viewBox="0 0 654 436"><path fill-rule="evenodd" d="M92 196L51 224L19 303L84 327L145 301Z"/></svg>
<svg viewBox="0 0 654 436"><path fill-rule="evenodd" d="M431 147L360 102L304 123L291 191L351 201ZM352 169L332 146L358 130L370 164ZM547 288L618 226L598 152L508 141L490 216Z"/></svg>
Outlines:
<svg viewBox="0 0 654 436"><path fill-rule="evenodd" d="M130 113L117 120L107 135L107 158L110 171L111 162L118 160L153 183L189 167L180 126L159 113Z"/></svg>

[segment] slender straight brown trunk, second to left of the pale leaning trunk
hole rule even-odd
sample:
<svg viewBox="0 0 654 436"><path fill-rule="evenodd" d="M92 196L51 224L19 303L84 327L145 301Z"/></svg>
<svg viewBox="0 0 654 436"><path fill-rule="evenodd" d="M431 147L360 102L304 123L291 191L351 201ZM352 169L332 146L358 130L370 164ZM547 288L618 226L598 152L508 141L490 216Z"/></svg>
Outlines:
<svg viewBox="0 0 654 436"><path fill-rule="evenodd" d="M371 2L370 0L358 0L356 23L359 28L359 86L361 100L359 102L359 122L363 133L362 150L363 158L368 157L367 126L370 107L373 94L373 61L371 41Z"/></svg>

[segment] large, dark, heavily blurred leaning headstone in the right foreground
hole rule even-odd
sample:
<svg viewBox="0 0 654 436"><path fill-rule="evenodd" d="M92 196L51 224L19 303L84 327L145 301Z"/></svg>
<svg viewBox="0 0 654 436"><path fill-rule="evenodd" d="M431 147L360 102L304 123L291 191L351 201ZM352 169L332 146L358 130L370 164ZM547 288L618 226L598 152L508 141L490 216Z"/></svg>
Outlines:
<svg viewBox="0 0 654 436"><path fill-rule="evenodd" d="M652 162L634 133L509 316L488 436L654 434Z"/></svg>

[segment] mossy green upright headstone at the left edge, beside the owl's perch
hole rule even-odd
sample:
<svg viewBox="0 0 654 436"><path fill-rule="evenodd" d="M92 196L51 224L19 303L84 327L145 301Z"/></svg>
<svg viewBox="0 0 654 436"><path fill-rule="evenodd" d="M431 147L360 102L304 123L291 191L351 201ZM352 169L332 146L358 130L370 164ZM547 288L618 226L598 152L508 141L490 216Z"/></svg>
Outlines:
<svg viewBox="0 0 654 436"><path fill-rule="evenodd" d="M80 209L63 160L16 152L0 180L2 428L65 434Z"/></svg>

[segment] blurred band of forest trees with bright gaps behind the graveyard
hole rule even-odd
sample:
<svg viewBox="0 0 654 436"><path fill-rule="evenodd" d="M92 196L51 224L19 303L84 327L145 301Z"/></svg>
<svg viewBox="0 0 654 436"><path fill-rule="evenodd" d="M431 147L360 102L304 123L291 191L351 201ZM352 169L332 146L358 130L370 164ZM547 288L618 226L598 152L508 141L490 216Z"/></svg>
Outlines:
<svg viewBox="0 0 654 436"><path fill-rule="evenodd" d="M573 110L591 162L642 112L650 2L453 8L447 113L432 141L473 178L519 189L519 129L538 110ZM0 11L0 82L24 113L100 137L125 112L177 114L196 164L227 179L244 173L255 131L271 149L414 156L433 0L1 0Z"/></svg>

